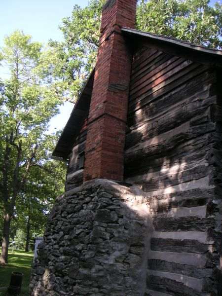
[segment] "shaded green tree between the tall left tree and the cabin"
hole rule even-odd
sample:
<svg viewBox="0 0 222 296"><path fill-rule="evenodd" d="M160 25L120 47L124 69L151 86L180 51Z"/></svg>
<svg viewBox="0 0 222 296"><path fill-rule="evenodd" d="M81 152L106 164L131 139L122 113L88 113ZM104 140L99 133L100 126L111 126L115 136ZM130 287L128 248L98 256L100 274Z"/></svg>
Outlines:
<svg viewBox="0 0 222 296"><path fill-rule="evenodd" d="M41 151L45 153L48 149L52 150L57 140L57 136L47 135ZM25 192L16 203L14 221L16 229L20 228L26 234L26 252L29 251L31 239L43 235L47 215L56 197L64 192L65 163L48 159L47 153L41 155L42 159L43 164L32 167Z"/></svg>

